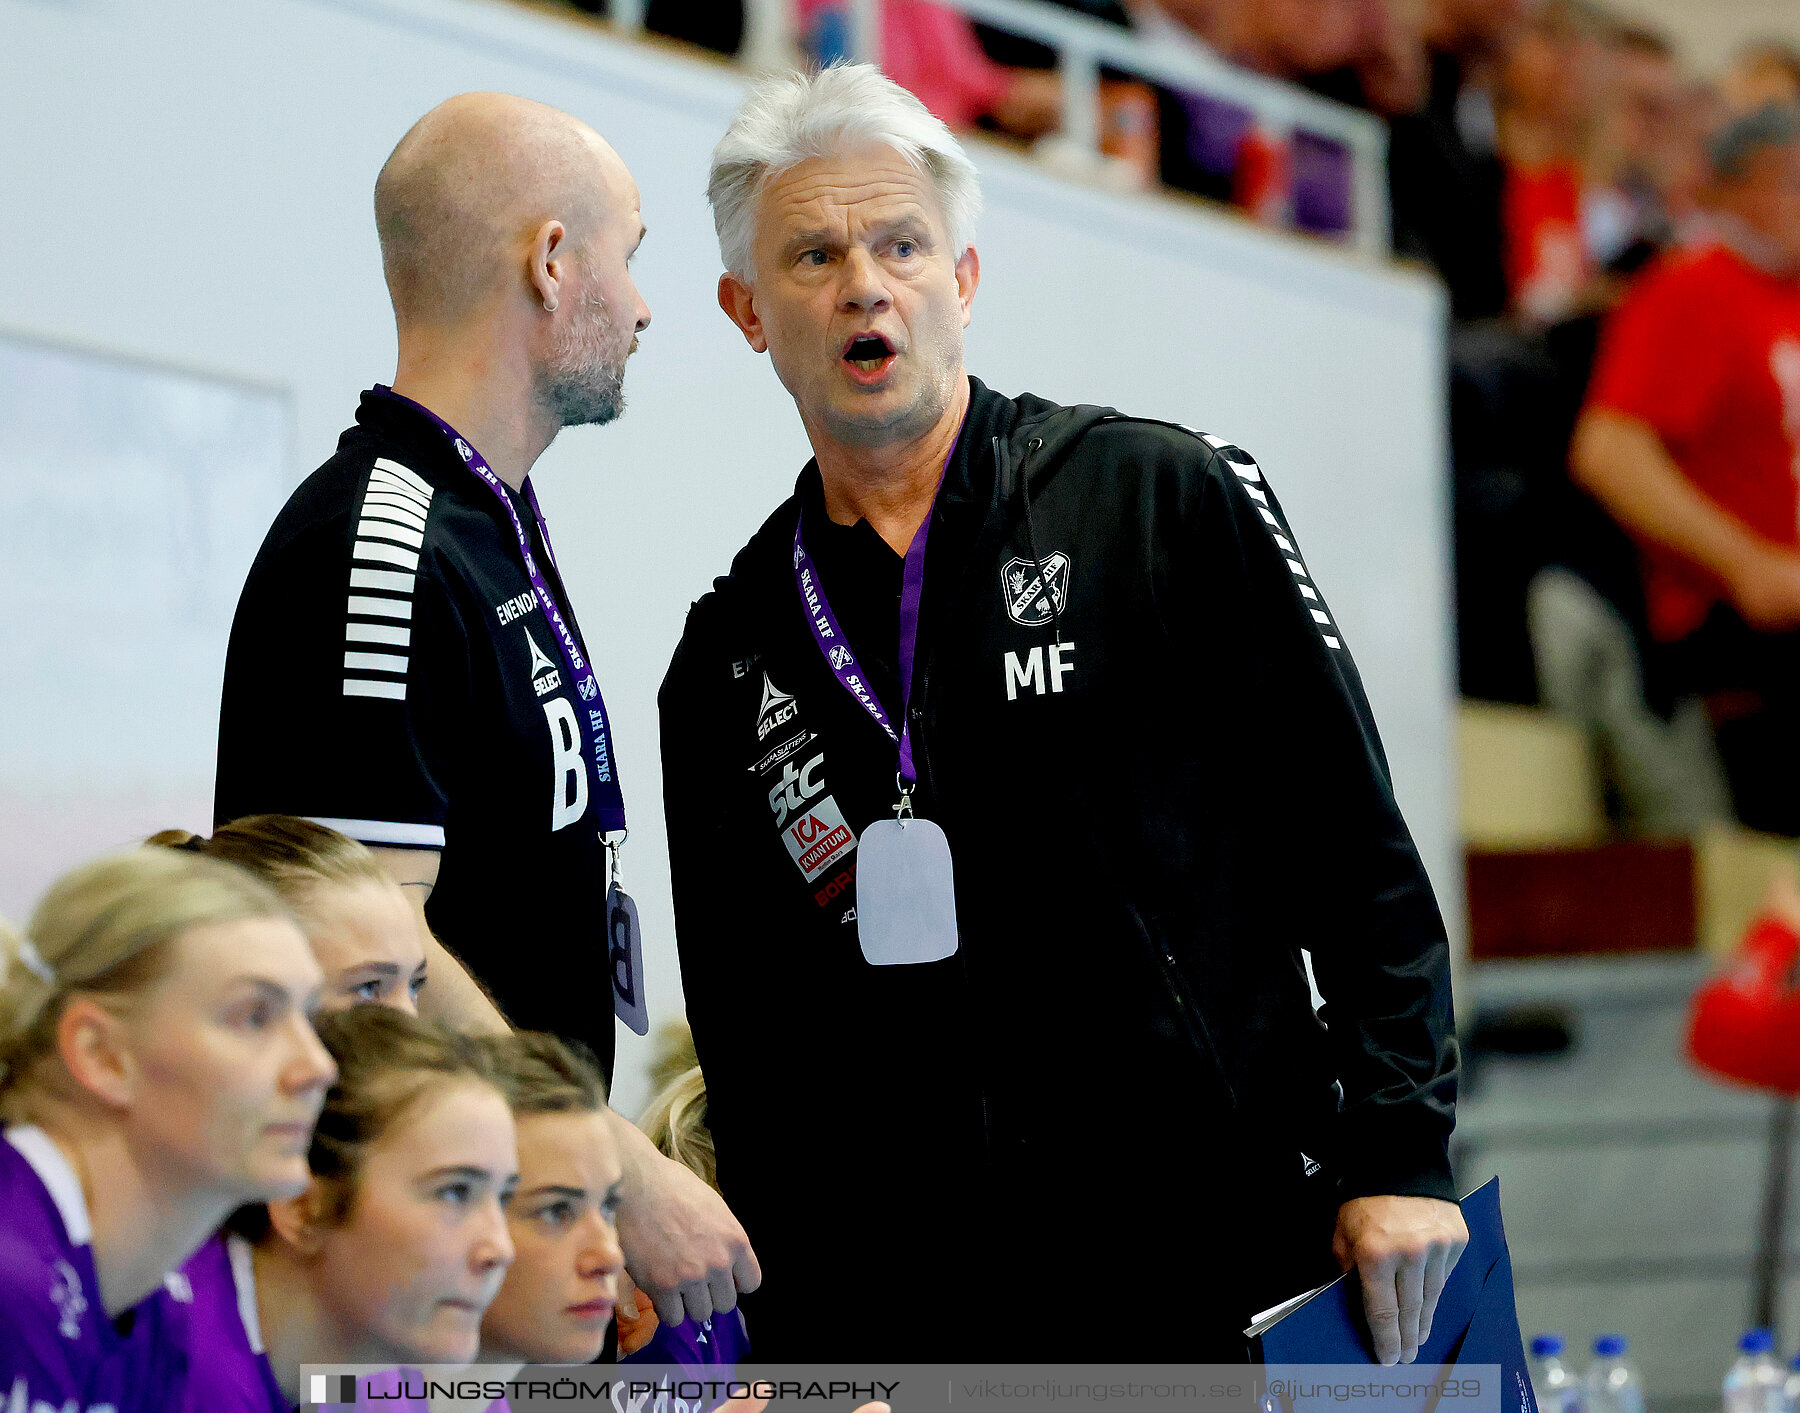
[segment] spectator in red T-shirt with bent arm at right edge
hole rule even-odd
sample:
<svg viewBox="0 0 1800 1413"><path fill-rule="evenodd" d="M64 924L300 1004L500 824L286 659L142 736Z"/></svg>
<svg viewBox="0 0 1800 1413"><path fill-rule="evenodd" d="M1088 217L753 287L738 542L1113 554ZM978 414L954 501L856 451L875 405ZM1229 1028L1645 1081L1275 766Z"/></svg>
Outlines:
<svg viewBox="0 0 1800 1413"><path fill-rule="evenodd" d="M1735 702L1739 817L1800 835L1800 108L1732 122L1714 167L1717 239L1613 315L1571 468L1643 551L1665 684Z"/></svg>

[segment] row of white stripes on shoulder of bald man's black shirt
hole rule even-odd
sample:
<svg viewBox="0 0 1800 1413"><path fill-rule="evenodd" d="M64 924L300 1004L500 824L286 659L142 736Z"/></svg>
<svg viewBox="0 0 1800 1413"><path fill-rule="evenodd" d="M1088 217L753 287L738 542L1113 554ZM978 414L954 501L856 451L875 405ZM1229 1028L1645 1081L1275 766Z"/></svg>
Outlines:
<svg viewBox="0 0 1800 1413"><path fill-rule="evenodd" d="M412 619L412 592L418 585L419 554L425 549L425 526L432 509L432 495L430 482L398 461L382 457L369 470L369 484L362 493L362 513L356 522L356 544L351 549L349 587L351 590L373 589L378 592L351 592L347 603L349 614L344 623L344 641L398 648L400 652L346 650L346 697L378 697L391 702L407 700L405 679L412 661L412 630L385 623L358 623L356 619L358 616ZM394 569L367 567L376 563L394 565ZM367 835L356 837L365 839ZM441 830L437 844L443 844Z"/></svg>

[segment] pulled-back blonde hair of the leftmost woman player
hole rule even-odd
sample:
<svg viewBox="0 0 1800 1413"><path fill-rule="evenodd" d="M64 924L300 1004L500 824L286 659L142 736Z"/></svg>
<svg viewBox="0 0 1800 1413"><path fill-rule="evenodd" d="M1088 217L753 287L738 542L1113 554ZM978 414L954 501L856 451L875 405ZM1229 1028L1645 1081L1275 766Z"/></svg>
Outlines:
<svg viewBox="0 0 1800 1413"><path fill-rule="evenodd" d="M23 932L0 938L0 1121L27 1118L58 1073L56 1026L74 995L124 1010L194 927L292 916L266 886L214 859L133 850L58 878Z"/></svg>

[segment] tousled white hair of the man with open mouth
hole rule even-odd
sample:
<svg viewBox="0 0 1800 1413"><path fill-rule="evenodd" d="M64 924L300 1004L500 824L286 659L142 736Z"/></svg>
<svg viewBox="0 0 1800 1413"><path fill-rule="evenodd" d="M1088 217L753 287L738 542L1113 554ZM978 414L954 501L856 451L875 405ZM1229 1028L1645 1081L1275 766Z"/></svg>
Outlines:
<svg viewBox="0 0 1800 1413"><path fill-rule="evenodd" d="M815 74L763 79L713 148L706 198L713 203L718 254L740 279L752 279L756 198L770 176L851 142L880 142L931 176L961 256L976 239L981 178L963 144L923 103L869 63L837 63Z"/></svg>

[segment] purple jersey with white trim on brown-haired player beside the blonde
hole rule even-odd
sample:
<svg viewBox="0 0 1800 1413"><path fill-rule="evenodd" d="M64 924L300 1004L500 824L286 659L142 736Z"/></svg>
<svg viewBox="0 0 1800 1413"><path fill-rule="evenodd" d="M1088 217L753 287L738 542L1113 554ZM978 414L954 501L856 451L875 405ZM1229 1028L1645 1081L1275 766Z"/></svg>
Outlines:
<svg viewBox="0 0 1800 1413"><path fill-rule="evenodd" d="M193 1287L185 1413L288 1413L263 1352L256 1269L243 1237L220 1233L182 1267Z"/></svg>

